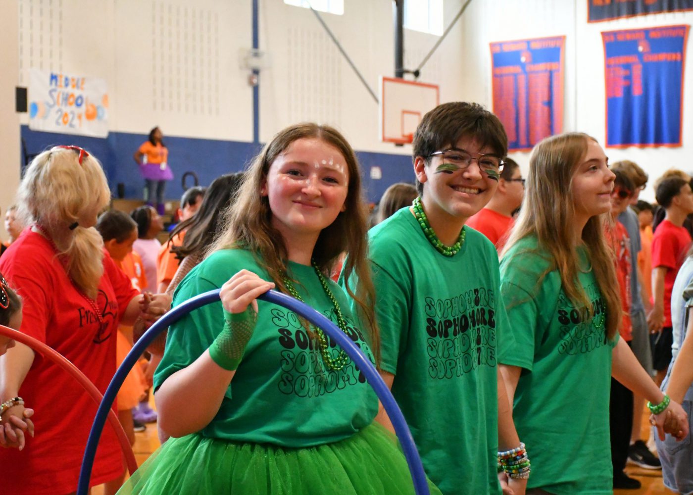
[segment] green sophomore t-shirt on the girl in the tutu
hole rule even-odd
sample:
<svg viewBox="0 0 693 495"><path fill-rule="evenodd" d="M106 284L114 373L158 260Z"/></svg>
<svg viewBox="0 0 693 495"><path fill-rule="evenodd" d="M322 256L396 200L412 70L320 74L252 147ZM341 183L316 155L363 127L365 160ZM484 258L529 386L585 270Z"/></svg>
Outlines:
<svg viewBox="0 0 693 495"><path fill-rule="evenodd" d="M270 280L247 250L221 250L196 266L178 286L173 304L220 288L245 268ZM289 263L289 275L306 304L337 322L333 304L313 267ZM328 281L340 304L347 334L373 361L359 325L352 318L342 289ZM224 326L221 302L192 311L168 331L166 351L154 376L155 387L190 365L207 349ZM333 357L339 351L329 339ZM221 407L202 430L206 437L237 442L305 447L347 438L365 428L378 412L376 394L351 360L340 372L326 370L295 313L258 300L258 321ZM195 407L195 404L191 404Z"/></svg>

